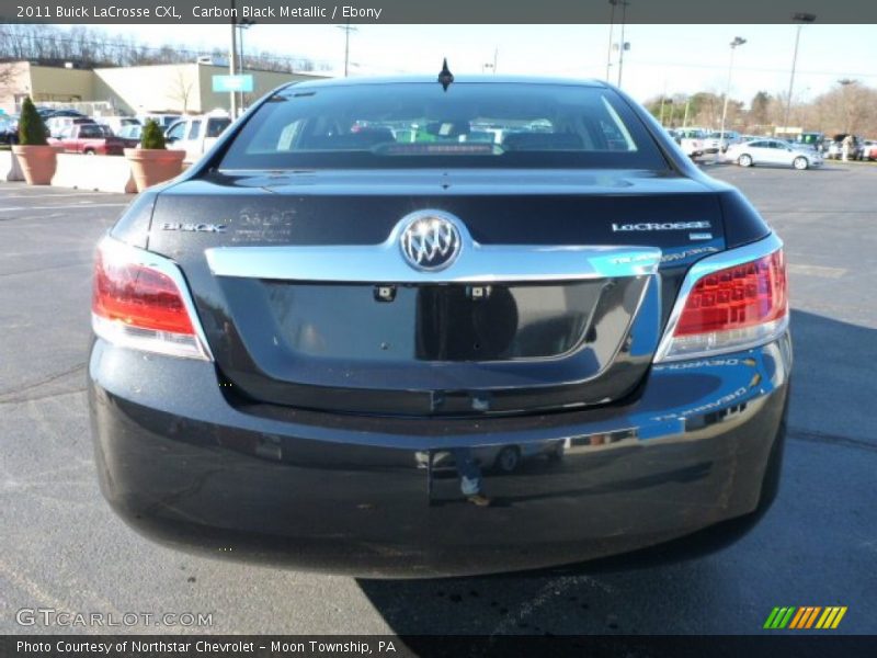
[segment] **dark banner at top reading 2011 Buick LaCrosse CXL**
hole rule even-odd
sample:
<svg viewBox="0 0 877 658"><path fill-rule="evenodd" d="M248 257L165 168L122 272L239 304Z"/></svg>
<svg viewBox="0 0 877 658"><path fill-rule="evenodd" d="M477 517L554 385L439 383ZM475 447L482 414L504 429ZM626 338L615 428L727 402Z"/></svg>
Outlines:
<svg viewBox="0 0 877 658"><path fill-rule="evenodd" d="M877 23L877 2L835 0L0 0L23 23L560 24Z"/></svg>

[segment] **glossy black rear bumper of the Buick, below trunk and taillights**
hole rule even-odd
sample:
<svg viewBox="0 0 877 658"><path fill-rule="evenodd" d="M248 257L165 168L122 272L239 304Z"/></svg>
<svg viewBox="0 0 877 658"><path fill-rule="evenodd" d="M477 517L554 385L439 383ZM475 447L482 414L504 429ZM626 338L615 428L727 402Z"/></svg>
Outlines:
<svg viewBox="0 0 877 658"><path fill-rule="evenodd" d="M217 557L425 577L582 561L763 510L790 362L785 334L654 366L628 406L478 421L271 418L230 404L210 363L96 340L89 394L103 494L146 535ZM522 460L512 474L482 473L489 507L466 501L456 470L440 467L447 449L483 461L505 445Z"/></svg>

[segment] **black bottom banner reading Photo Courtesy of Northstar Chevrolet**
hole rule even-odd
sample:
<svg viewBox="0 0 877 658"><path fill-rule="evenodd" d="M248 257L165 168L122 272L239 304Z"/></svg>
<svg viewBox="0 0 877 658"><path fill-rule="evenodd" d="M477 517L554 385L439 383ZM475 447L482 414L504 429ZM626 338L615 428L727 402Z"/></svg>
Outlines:
<svg viewBox="0 0 877 658"><path fill-rule="evenodd" d="M857 658L874 656L870 635L395 636L395 635L7 635L3 658L455 658L624 656L677 658Z"/></svg>

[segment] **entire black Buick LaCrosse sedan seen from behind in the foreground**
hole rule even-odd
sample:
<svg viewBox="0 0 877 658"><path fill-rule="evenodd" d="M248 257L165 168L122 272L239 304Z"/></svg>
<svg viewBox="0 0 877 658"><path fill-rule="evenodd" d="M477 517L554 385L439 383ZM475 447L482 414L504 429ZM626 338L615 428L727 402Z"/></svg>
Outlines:
<svg viewBox="0 0 877 658"><path fill-rule="evenodd" d="M169 545L371 577L731 536L788 317L779 238L613 87L292 83L99 246L101 487Z"/></svg>

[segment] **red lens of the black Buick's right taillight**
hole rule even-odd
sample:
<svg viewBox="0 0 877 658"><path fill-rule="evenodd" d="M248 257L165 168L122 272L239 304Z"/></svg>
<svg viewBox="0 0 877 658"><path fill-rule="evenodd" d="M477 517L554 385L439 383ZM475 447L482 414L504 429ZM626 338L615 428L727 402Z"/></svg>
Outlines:
<svg viewBox="0 0 877 658"><path fill-rule="evenodd" d="M745 329L788 310L783 250L703 276L692 288L673 336Z"/></svg>

